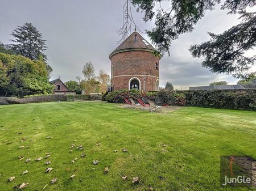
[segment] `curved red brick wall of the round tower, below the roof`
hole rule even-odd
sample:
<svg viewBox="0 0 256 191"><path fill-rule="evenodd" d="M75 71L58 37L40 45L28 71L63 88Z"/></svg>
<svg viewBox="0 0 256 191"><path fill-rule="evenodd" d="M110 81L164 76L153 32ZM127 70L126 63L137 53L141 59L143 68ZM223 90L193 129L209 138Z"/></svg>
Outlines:
<svg viewBox="0 0 256 191"><path fill-rule="evenodd" d="M143 90L144 75L146 91L156 90L156 80L159 79L159 57L155 57L151 52L130 51L114 54L111 61L113 65L112 86L114 90L128 89L129 80L133 77L141 80L141 90ZM156 62L158 62L158 70L155 69ZM117 77L119 75L126 76Z"/></svg>

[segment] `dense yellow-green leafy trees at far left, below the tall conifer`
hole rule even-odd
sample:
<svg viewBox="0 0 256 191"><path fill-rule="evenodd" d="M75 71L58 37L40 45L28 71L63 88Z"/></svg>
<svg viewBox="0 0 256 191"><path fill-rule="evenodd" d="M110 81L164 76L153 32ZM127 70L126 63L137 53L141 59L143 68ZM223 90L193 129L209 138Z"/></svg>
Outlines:
<svg viewBox="0 0 256 191"><path fill-rule="evenodd" d="M0 53L0 69L0 91L10 96L49 94L53 90L42 60Z"/></svg>

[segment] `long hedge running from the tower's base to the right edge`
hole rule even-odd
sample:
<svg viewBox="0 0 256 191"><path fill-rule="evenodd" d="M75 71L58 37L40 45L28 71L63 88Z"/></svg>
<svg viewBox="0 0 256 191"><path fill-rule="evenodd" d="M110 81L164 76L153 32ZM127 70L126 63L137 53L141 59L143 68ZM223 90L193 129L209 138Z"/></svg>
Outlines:
<svg viewBox="0 0 256 191"><path fill-rule="evenodd" d="M196 90L142 92L138 90L118 90L102 95L102 100L124 103L124 98L137 100L141 97L155 101L163 99L164 104L185 105L204 108L237 109L256 111L256 90Z"/></svg>

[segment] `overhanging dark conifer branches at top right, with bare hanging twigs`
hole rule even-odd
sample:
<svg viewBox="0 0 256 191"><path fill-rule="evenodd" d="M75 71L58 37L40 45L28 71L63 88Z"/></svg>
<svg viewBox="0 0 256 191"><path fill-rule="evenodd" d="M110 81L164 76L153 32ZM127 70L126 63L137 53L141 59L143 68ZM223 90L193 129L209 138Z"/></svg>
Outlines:
<svg viewBox="0 0 256 191"><path fill-rule="evenodd" d="M241 23L220 35L209 33L211 39L189 49L194 57L205 57L202 63L214 73L232 74L233 77L248 77L247 70L256 60L256 55L244 53L256 46L256 12L246 12L247 7L256 5L255 0L170 0L169 7L163 9L163 0L126 0L123 6L123 26L119 29L125 37L131 24L135 24L131 4L137 11L144 11L144 21L155 17L155 26L146 33L156 45L159 53L168 52L170 45L179 35L192 32L195 24L203 18L205 11L212 10L218 3L229 14L240 14ZM136 26L136 24L135 24Z"/></svg>

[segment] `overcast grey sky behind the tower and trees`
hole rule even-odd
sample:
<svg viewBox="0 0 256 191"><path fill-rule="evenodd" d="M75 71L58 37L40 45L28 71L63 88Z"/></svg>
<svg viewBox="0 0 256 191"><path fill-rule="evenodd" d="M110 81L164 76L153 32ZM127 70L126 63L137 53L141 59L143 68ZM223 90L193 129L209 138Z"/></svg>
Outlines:
<svg viewBox="0 0 256 191"><path fill-rule="evenodd" d="M10 43L11 31L31 22L47 40L51 79L60 76L64 82L76 80L77 76L82 77L82 67L89 60L96 74L100 69L110 74L109 54L120 39L116 30L122 26L123 3L124 0L0 0L0 41ZM201 67L201 59L193 58L188 51L190 45L209 40L207 31L221 33L239 22L238 15L226 12L219 8L207 11L192 33L181 35L172 43L171 56L166 54L160 61L160 86L167 81L175 87L209 85L218 80L237 82L229 75L210 73ZM141 12L134 10L133 15L142 31L154 24L144 23ZM142 36L150 41L145 34Z"/></svg>

